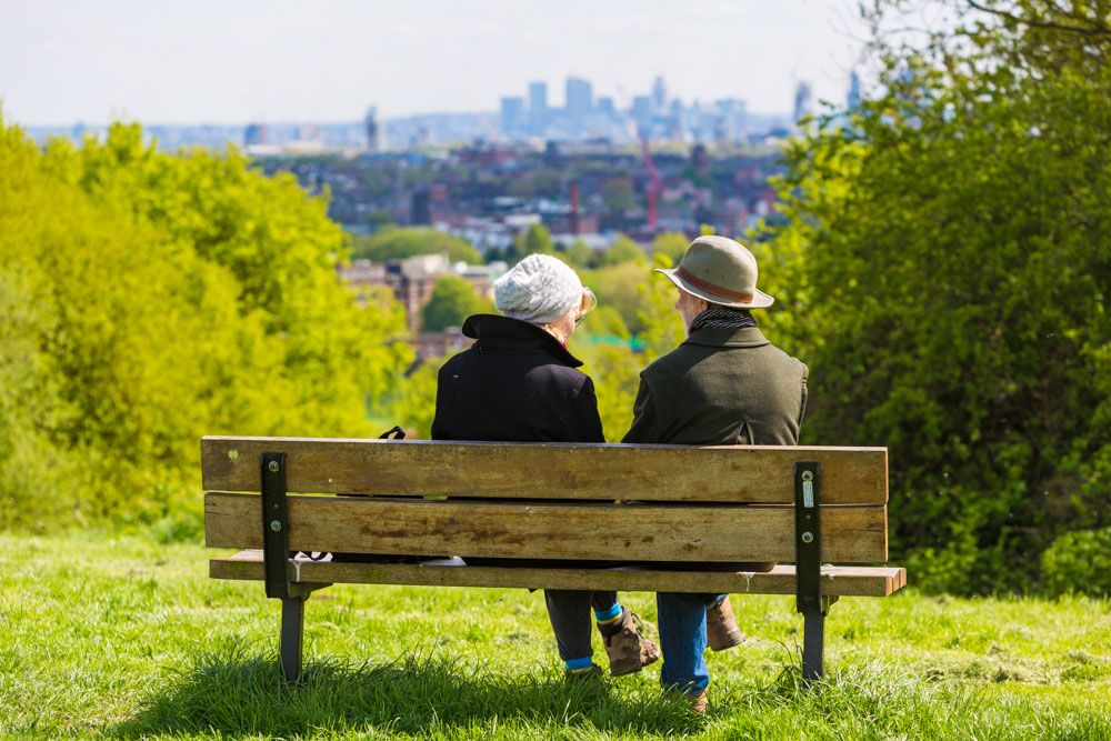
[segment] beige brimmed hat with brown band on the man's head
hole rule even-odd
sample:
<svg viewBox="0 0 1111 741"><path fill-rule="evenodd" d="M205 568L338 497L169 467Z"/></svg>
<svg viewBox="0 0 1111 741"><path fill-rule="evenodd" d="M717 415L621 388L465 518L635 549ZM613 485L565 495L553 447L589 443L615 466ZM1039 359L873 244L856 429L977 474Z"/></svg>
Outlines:
<svg viewBox="0 0 1111 741"><path fill-rule="evenodd" d="M724 237L699 237L687 248L678 268L657 268L655 272L710 303L767 309L775 302L757 288L757 259L743 244Z"/></svg>

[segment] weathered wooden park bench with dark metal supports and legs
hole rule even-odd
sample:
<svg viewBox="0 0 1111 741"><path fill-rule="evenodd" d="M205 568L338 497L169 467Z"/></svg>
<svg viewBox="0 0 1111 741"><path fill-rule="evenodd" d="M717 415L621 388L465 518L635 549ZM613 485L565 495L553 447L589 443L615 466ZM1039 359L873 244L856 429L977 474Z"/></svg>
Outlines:
<svg viewBox="0 0 1111 741"><path fill-rule="evenodd" d="M267 597L281 599L289 680L301 671L304 600L332 583L795 594L803 674L812 680L822 673L829 605L887 597L907 580L901 568L843 565L888 558L884 448L207 437L201 461L206 543L244 549L212 559L209 574L262 580ZM604 559L631 568L294 558L312 551ZM632 567L650 561L690 569ZM779 565L704 567L759 561Z"/></svg>

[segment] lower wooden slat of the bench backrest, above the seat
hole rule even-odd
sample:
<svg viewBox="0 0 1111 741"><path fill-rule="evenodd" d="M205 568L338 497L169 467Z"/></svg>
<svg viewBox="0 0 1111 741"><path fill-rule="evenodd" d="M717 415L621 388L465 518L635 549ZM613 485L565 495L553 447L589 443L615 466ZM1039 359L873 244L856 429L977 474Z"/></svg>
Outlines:
<svg viewBox="0 0 1111 741"><path fill-rule="evenodd" d="M206 494L204 537L217 548L261 548L261 497ZM793 561L794 510L291 495L289 545L492 558ZM823 508L823 561L887 558L887 508Z"/></svg>

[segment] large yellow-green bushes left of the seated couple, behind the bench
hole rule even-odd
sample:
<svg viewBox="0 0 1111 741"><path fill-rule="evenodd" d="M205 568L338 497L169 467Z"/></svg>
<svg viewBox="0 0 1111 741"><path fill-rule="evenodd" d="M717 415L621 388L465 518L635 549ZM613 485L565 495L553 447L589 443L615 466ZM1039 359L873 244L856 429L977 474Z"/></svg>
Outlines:
<svg viewBox="0 0 1111 741"><path fill-rule="evenodd" d="M0 171L4 527L196 513L202 434L366 433L363 399L411 357L291 177L134 126L43 153L2 121Z"/></svg>

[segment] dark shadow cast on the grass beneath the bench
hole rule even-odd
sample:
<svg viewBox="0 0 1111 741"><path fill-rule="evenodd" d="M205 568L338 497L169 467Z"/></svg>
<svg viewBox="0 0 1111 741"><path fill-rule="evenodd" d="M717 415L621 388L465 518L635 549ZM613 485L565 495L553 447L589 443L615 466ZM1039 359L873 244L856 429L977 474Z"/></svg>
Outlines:
<svg viewBox="0 0 1111 741"><path fill-rule="evenodd" d="M633 693L634 695L635 693ZM299 737L321 731L436 734L512 725L548 738L574 728L684 733L701 728L681 702L658 691L618 692L609 680L561 674L503 677L409 654L391 663L317 662L302 681L282 681L273 654L231 645L199 657L149 697L109 737L227 734Z"/></svg>

